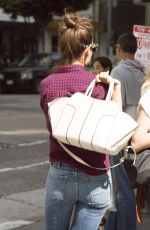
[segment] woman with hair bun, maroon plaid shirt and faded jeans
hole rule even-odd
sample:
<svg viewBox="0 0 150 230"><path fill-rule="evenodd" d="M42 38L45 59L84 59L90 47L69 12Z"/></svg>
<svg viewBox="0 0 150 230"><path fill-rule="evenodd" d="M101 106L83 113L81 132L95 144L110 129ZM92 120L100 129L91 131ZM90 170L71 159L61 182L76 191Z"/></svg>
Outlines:
<svg viewBox="0 0 150 230"><path fill-rule="evenodd" d="M88 168L72 159L52 136L47 103L58 97L85 92L95 75L85 71L95 50L93 27L89 20L65 13L59 25L61 62L55 72L41 82L41 107L50 132L51 167L46 182L46 230L97 230L107 208L111 206L108 170ZM109 77L95 86L92 97L104 99ZM120 82L115 80L113 92L121 108ZM105 154L67 146L93 167L109 167Z"/></svg>

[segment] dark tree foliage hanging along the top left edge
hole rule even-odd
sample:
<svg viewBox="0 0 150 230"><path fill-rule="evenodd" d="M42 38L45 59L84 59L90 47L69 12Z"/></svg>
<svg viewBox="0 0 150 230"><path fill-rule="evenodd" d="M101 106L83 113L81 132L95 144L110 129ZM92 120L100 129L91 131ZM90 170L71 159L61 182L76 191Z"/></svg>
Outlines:
<svg viewBox="0 0 150 230"><path fill-rule="evenodd" d="M64 8L74 11L89 7L93 0L0 0L0 7L15 19L18 15L28 18L33 16L36 22L47 24L54 15L62 15Z"/></svg>

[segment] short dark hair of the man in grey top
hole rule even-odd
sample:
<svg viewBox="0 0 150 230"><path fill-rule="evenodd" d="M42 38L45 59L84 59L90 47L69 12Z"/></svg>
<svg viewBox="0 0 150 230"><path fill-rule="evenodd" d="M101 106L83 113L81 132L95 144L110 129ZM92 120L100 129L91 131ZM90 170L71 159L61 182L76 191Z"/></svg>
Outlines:
<svg viewBox="0 0 150 230"><path fill-rule="evenodd" d="M131 33L121 34L117 39L117 44L127 53L134 54L137 50L136 37Z"/></svg>

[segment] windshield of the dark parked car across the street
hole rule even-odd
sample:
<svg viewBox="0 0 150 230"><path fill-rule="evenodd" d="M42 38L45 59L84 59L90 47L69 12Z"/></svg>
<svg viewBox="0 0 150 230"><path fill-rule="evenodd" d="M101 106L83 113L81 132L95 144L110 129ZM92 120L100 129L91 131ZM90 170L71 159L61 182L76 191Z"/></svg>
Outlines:
<svg viewBox="0 0 150 230"><path fill-rule="evenodd" d="M49 54L29 55L19 63L19 67L44 67L48 66L49 62Z"/></svg>

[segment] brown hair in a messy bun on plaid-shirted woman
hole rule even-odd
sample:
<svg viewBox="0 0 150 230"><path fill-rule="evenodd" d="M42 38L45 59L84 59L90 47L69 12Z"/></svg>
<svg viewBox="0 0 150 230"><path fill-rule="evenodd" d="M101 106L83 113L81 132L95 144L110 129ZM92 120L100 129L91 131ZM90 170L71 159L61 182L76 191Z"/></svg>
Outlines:
<svg viewBox="0 0 150 230"><path fill-rule="evenodd" d="M80 57L92 40L93 26L91 22L73 13L65 13L59 24L61 62L71 64L73 59Z"/></svg>

